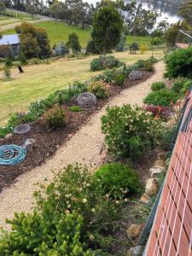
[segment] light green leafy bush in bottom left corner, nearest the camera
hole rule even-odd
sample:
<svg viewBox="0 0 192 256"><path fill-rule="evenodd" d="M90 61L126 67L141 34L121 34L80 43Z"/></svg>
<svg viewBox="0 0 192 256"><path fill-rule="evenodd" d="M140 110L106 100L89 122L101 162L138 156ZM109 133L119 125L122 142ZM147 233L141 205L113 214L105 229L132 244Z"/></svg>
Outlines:
<svg viewBox="0 0 192 256"><path fill-rule="evenodd" d="M80 241L83 218L74 212L44 207L42 214L15 213L8 223L12 231L0 238L1 255L94 255Z"/></svg>

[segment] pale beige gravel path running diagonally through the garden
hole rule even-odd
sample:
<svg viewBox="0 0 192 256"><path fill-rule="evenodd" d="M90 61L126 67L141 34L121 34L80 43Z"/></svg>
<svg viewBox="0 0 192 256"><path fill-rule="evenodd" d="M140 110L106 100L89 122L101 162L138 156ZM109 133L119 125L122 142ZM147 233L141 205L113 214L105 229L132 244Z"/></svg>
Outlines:
<svg viewBox="0 0 192 256"><path fill-rule="evenodd" d="M124 103L138 105L143 104L143 98L148 95L150 85L156 81L163 80L165 65L163 61L155 64L154 75L145 82L130 89L123 90L119 96L115 96L109 106L120 106ZM105 113L105 108L90 118L87 124L61 148L58 148L54 156L47 160L42 166L20 176L9 189L0 194L0 225L5 227L4 219L12 218L14 212L29 212L32 208L32 192L36 190L35 183L42 183L47 178L51 180L53 172L60 170L67 164L81 162L84 164L99 163L103 145L100 118ZM16 166L15 166L16 168Z"/></svg>

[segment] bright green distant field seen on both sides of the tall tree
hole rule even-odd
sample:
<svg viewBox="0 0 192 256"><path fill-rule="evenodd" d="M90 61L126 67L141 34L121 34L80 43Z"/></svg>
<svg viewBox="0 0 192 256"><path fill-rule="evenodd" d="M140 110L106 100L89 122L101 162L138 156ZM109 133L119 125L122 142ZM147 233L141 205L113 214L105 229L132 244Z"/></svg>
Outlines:
<svg viewBox="0 0 192 256"><path fill-rule="evenodd" d="M42 21L34 26L44 27L49 36L50 44L56 44L58 42L64 41L67 42L68 34L76 32L79 35L80 44L82 47L85 47L89 38L90 38L90 28L82 29L78 26L68 26L65 23L55 21ZM15 33L14 29L4 31L3 34L12 34ZM127 36L126 44L131 44L137 42L139 45L146 44L150 46L151 38L150 37L134 37Z"/></svg>

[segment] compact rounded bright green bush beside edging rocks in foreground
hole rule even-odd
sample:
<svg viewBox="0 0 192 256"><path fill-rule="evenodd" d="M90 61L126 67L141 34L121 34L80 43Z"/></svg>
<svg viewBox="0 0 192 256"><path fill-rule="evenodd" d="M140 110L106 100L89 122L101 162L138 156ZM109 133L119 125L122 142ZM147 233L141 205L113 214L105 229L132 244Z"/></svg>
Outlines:
<svg viewBox="0 0 192 256"><path fill-rule="evenodd" d="M95 177L100 179L103 195L108 194L118 200L133 195L141 188L137 173L119 163L101 166Z"/></svg>

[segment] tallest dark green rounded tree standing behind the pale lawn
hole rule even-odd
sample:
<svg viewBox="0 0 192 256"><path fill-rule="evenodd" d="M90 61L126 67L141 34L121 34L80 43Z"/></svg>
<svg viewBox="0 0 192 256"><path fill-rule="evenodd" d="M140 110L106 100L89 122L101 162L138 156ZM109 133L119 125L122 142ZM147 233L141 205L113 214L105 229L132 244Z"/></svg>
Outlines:
<svg viewBox="0 0 192 256"><path fill-rule="evenodd" d="M119 44L123 31L123 19L113 6L103 7L96 12L91 36L101 52L108 53Z"/></svg>

